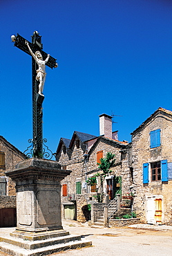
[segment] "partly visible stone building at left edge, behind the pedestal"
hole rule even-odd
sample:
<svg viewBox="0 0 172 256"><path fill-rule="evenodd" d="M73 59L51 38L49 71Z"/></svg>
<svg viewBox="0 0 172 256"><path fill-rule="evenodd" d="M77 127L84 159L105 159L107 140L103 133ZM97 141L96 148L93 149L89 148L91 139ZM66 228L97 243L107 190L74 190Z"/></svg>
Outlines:
<svg viewBox="0 0 172 256"><path fill-rule="evenodd" d="M5 172L24 159L25 154L0 136L0 227L16 225L15 183Z"/></svg>

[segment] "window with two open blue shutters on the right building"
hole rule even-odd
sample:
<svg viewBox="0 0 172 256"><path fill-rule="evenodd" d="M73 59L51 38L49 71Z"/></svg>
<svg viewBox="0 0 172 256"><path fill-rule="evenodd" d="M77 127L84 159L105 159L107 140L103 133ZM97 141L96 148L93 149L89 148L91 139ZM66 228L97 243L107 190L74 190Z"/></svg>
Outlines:
<svg viewBox="0 0 172 256"><path fill-rule="evenodd" d="M150 170L150 174L149 174ZM143 164L143 183L149 183L149 178L151 181L168 181L168 168L167 160L162 160L154 163L144 163Z"/></svg>

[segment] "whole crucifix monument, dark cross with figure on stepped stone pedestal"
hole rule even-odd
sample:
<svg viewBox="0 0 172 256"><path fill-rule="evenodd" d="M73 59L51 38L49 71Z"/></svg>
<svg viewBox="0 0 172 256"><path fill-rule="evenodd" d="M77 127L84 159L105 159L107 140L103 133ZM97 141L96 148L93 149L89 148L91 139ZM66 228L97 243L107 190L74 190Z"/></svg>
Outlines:
<svg viewBox="0 0 172 256"><path fill-rule="evenodd" d="M61 225L60 181L71 171L61 170L57 161L43 158L41 104L45 65L56 67L56 60L41 50L41 37L37 31L32 35L32 44L19 34L12 36L12 41L32 55L33 157L6 172L16 183L17 228L8 235L0 235L0 250L10 255L39 256L90 246L90 241L69 235Z"/></svg>

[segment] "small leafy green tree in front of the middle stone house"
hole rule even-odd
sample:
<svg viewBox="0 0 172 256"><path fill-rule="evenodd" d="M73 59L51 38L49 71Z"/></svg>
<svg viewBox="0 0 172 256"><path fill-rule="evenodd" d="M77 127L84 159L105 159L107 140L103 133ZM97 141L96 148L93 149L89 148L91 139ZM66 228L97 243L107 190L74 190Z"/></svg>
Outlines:
<svg viewBox="0 0 172 256"><path fill-rule="evenodd" d="M96 193L97 193L97 200L99 203L102 203L103 197L104 197L104 179L108 174L111 174L111 167L115 165L115 154L112 154L111 152L108 152L106 154L106 157L100 158L100 163L97 163L98 168L102 172L98 172L95 174L93 177L88 178L86 183L89 186L97 184L97 179L99 177L100 184L99 187L96 188Z"/></svg>

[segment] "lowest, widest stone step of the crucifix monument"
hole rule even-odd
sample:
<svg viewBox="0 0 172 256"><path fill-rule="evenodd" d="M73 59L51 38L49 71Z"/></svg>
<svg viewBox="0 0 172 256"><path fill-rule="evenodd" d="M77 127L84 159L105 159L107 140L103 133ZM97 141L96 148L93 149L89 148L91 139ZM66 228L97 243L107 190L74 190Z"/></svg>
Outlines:
<svg viewBox="0 0 172 256"><path fill-rule="evenodd" d="M28 242L28 244L30 241ZM26 249L26 248L21 248L19 246L13 245L13 244L8 244L4 241L0 241L0 250L3 251L4 253L8 253L12 256L43 256L43 255L48 255L52 253L58 253L64 250L70 250L70 249L76 249L76 248L82 248L86 246L91 246L92 242L88 241L86 239L82 240L74 240L74 241L69 241L69 242L64 242L63 244L51 244L46 247L41 247L41 248L35 248L35 249Z"/></svg>

